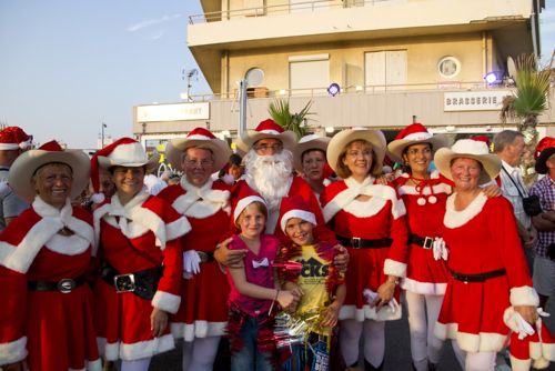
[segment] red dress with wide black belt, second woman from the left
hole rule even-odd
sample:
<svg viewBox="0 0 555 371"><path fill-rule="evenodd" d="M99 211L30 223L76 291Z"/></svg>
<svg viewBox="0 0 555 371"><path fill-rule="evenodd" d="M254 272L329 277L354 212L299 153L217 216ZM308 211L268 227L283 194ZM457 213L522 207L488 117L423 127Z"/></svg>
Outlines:
<svg viewBox="0 0 555 371"><path fill-rule="evenodd" d="M163 200L140 192L125 205L117 194L94 210L99 258L119 274L134 273L163 264L152 300L133 292L115 292L113 284L98 278L94 285L95 325L99 348L108 360L133 361L174 347L170 330L152 335L153 307L175 313L181 302L182 255L179 237L189 222Z"/></svg>

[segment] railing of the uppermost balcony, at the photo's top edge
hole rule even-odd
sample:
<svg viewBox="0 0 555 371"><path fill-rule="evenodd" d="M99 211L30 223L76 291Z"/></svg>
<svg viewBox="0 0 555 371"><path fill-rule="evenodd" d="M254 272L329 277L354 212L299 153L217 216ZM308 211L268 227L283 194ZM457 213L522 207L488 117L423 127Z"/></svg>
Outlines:
<svg viewBox="0 0 555 371"><path fill-rule="evenodd" d="M189 16L190 24L220 22L235 18L266 17L278 14L290 14L294 12L319 12L329 9L353 8L373 6L379 2L394 0L315 0L280 6L261 6L254 8L242 8L232 10L213 11L204 14Z"/></svg>

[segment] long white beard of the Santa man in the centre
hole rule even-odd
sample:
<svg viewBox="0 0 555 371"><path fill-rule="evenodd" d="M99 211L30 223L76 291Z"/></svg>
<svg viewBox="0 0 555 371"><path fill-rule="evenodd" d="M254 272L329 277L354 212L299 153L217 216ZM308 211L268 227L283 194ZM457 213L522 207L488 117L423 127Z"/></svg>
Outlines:
<svg viewBox="0 0 555 371"><path fill-rule="evenodd" d="M250 150L244 157L246 182L266 201L270 210L278 210L287 195L293 171L293 154L289 150L273 156L259 156Z"/></svg>

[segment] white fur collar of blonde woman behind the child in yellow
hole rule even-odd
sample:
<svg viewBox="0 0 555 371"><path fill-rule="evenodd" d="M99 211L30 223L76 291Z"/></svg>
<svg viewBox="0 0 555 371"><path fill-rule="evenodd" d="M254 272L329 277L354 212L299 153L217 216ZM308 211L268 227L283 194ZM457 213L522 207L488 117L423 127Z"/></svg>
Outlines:
<svg viewBox="0 0 555 371"><path fill-rule="evenodd" d="M347 188L339 192L323 208L325 222L329 222L340 210L344 210L357 218L370 218L377 214L386 204L392 202L391 213L397 219L406 213L405 204L397 199L395 189L390 186L374 184L373 178L366 178L359 183L352 178L344 180ZM372 197L369 201L355 200L357 195Z"/></svg>

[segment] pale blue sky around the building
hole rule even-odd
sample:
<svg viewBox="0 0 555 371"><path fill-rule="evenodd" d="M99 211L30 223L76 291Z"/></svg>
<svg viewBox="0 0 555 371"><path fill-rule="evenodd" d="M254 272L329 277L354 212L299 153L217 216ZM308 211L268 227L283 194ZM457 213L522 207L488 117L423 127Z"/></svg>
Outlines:
<svg viewBox="0 0 555 371"><path fill-rule="evenodd" d="M200 0L0 0L0 124L44 143L95 148L132 136L133 107L178 102ZM541 16L542 49L555 48L555 0ZM191 93L209 93L199 73Z"/></svg>

